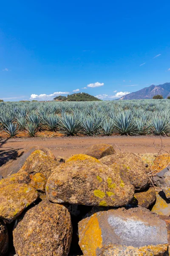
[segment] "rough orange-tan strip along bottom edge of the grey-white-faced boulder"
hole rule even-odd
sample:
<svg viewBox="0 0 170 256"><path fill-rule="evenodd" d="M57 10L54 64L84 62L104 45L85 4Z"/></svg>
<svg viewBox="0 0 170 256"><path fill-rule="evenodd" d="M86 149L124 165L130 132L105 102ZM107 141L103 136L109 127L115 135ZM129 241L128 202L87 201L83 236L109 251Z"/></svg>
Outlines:
<svg viewBox="0 0 170 256"><path fill-rule="evenodd" d="M165 256L168 244L133 246L112 245L103 248L99 256Z"/></svg>

